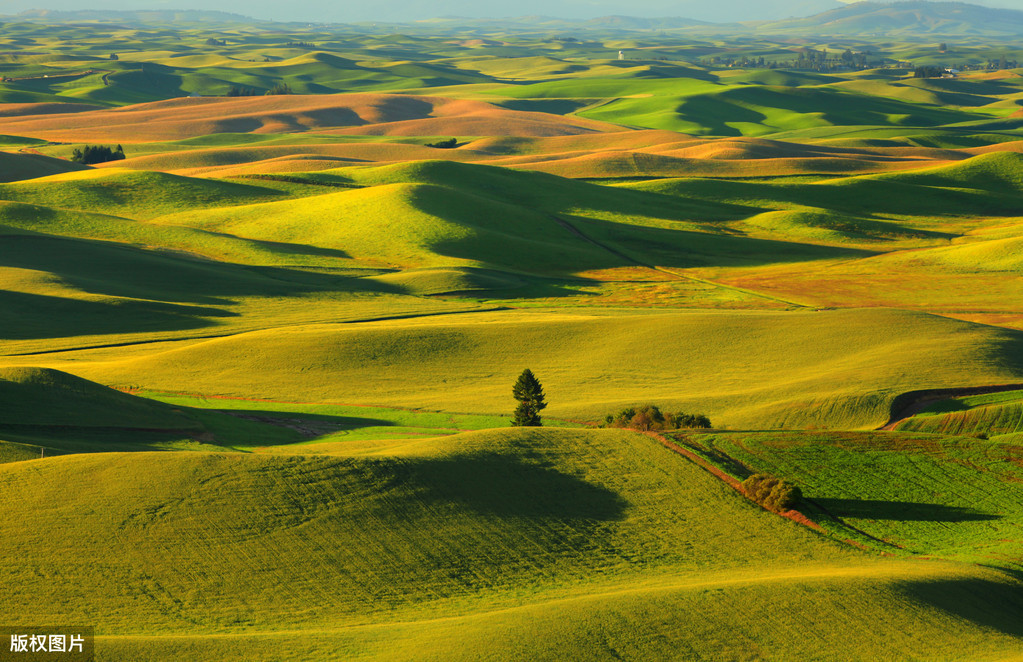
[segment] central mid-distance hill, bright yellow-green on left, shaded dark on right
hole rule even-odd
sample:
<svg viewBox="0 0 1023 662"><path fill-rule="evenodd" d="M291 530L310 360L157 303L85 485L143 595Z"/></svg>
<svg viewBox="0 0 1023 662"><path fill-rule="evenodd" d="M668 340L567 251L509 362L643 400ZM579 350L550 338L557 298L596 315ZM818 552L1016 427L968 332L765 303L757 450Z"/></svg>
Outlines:
<svg viewBox="0 0 1023 662"><path fill-rule="evenodd" d="M388 266L564 272L575 265L608 262L604 251L536 211L430 184L382 184L294 202L180 214L162 222L250 239L305 242Z"/></svg>

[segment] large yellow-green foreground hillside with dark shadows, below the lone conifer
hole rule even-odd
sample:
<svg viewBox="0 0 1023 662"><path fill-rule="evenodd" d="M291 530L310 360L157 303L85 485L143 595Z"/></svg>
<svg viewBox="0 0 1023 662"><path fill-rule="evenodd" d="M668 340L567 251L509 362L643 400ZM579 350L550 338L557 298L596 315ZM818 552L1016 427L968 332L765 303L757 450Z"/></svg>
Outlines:
<svg viewBox="0 0 1023 662"><path fill-rule="evenodd" d="M91 617L115 659L934 659L1018 641L1018 582L833 542L626 432L59 457L0 467L0 485L4 618Z"/></svg>

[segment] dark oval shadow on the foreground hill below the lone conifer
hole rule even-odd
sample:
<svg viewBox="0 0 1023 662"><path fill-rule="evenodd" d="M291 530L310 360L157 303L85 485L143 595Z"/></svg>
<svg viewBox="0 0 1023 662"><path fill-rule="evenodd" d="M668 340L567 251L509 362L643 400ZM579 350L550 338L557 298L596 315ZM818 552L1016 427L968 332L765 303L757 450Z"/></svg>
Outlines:
<svg viewBox="0 0 1023 662"><path fill-rule="evenodd" d="M507 518L622 520L617 493L515 455L488 453L414 460L407 480L425 501L460 502Z"/></svg>

